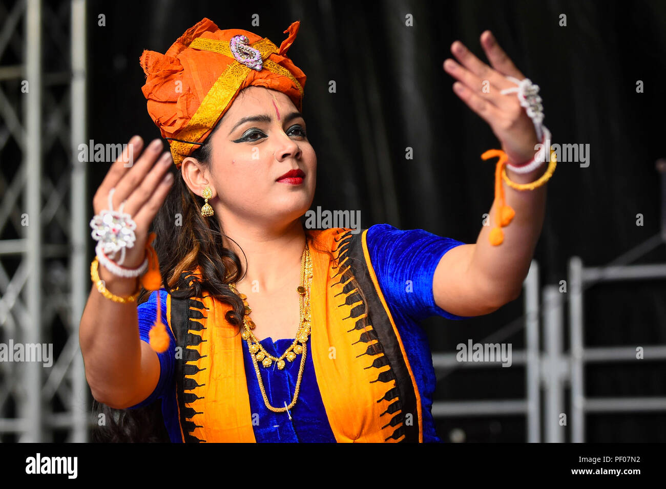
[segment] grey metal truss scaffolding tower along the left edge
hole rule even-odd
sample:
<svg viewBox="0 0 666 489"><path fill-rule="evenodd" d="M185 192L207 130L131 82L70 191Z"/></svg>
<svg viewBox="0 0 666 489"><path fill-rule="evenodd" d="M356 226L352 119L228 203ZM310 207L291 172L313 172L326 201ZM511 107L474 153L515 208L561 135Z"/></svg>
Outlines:
<svg viewBox="0 0 666 489"><path fill-rule="evenodd" d="M88 203L87 168L75 155L86 140L85 1L8 5L0 3L1 341L52 345L53 357L0 362L0 440L83 442Z"/></svg>

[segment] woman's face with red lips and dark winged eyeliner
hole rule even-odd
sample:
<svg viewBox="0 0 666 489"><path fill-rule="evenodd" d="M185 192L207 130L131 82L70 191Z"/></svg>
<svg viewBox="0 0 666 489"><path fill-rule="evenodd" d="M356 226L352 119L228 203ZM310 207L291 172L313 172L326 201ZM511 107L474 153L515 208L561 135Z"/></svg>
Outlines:
<svg viewBox="0 0 666 489"><path fill-rule="evenodd" d="M284 226L300 218L312 204L317 167L305 130L286 94L248 86L209 136L210 166L190 188L201 195L209 182L208 203L222 226L229 220ZM300 178L282 178L294 171Z"/></svg>

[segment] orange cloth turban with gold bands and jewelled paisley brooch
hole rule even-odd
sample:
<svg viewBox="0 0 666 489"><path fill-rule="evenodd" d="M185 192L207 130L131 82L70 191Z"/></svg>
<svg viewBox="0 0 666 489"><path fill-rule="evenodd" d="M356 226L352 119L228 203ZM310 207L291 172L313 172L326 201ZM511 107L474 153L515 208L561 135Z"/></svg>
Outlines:
<svg viewBox="0 0 666 489"><path fill-rule="evenodd" d="M220 31L210 19L203 19L164 55L143 52L146 84L141 90L162 136L172 138L169 143L176 166L200 147L192 143L204 142L246 86L283 92L301 110L306 77L286 57L299 25L296 21L284 31L288 37L278 49L249 31Z"/></svg>

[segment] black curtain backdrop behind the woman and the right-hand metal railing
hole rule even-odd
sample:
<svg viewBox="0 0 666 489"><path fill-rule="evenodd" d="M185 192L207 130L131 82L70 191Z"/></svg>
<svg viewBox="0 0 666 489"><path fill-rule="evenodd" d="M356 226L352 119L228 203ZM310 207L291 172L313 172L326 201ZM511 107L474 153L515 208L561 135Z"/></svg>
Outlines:
<svg viewBox="0 0 666 489"><path fill-rule="evenodd" d="M412 14L413 27L405 16ZM105 15L104 27L98 25ZM258 14L259 27L252 26ZM559 25L567 16L566 27ZM159 135L141 93L143 49L164 53L203 17L277 45L300 19L288 55L308 76L304 115L318 157L313 208L360 210L362 226L387 222L476 242L493 198L494 165L480 154L498 148L488 125L452 92L442 69L450 45L463 41L483 57L479 36L491 29L527 77L541 86L544 124L553 142L589 144L587 168L558 164L535 259L541 283L566 279L567 260L604 265L659 232L663 147L666 2L637 1L91 1L89 136L127 142ZM47 19L46 19L47 21ZM485 58L482 58L485 60ZM328 82L336 81L336 93ZM644 92L637 93L636 82ZM414 159L405 159L405 148ZM108 165L91 172L89 194ZM644 225L636 225L643 214ZM666 258L660 245L639 262ZM585 345L666 343L663 281L597 285L585 303ZM468 338L523 347L521 300L469 321L428 319L431 346L455 351ZM567 345L568 339L565 339ZM661 363L663 365L663 363ZM525 393L521 367L438 373L436 399L511 399ZM508 371L508 372L507 372ZM586 375L591 396L664 396L659 363L599 366ZM568 401L568 399L567 399ZM567 405L568 406L568 405ZM666 440L666 414L591 415L588 441ZM521 416L452 418L438 423L450 439L523 441Z"/></svg>

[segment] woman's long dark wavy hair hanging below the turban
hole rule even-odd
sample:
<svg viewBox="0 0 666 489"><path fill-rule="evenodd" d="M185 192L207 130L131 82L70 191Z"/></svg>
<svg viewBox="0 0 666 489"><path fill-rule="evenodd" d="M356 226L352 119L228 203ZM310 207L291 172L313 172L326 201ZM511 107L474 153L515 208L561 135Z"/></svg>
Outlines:
<svg viewBox="0 0 666 489"><path fill-rule="evenodd" d="M208 168L210 168L212 156L212 134L219 126L220 122L206 138L204 144L190 154L192 158L196 158L200 164L208 166ZM172 165L170 171L174 174L174 184L155 216L151 228L157 235L154 247L160 262L160 272L165 281L163 287L173 297L180 298L201 297L204 291L210 293L220 301L232 306L232 309L226 313L226 320L232 325L240 326L244 310L243 303L227 284L239 281L246 266L242 266L234 251L224 247L222 238L225 235L220 229L218 220L204 218L201 215L200 209L204 205L204 199L195 195L188 188L180 176L180 170L175 165ZM230 238L226 238L230 240ZM313 242L312 245L319 251L328 253L331 259L335 259L334 253L330 249L320 248L316 242ZM194 270L196 265L201 267L201 280L193 281L191 287L182 287L181 283L179 284L181 287L174 290L180 274L183 271ZM366 300L358 287L356 277L350 271L346 271L344 276L348 276L354 281L367 313ZM149 295L150 291L143 289L139 295L139 303L147 301ZM157 399L151 405L134 409L114 409L93 401L93 412L98 415L103 413L106 420L104 426L97 426L93 430L94 442L170 441L162 415L161 399Z"/></svg>

